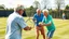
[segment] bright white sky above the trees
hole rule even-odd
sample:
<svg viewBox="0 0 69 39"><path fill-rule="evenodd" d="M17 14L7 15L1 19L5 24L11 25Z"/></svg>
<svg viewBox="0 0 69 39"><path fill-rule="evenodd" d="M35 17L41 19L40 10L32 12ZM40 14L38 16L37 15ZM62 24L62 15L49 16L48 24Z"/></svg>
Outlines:
<svg viewBox="0 0 69 39"><path fill-rule="evenodd" d="M42 3L42 0L37 0L40 3ZM5 8L15 8L17 4L23 4L25 5L25 8L28 8L30 5L32 5L32 3L34 2L34 0L0 0L0 4L4 4ZM55 1L54 0L50 0L50 4L47 5L49 8L55 8ZM69 0L65 0L65 5L69 4ZM42 4L41 4L42 6Z"/></svg>

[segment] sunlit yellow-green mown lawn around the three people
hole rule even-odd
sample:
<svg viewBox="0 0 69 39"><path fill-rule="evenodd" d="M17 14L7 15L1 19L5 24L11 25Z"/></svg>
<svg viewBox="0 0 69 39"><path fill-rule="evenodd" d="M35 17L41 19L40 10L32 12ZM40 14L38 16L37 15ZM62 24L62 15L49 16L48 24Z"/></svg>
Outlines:
<svg viewBox="0 0 69 39"><path fill-rule="evenodd" d="M25 17L25 21L27 21L28 17ZM31 20L30 20L31 21ZM32 21L28 21L27 24L31 27L33 27ZM53 39L69 39L69 20L56 20L54 18L54 24L56 26L55 34L53 36ZM0 17L0 39L4 39L5 36L5 27L6 27L6 17ZM45 32L46 31L46 28ZM29 31L23 30L23 37L24 39L36 39L36 29L32 28ZM42 39L42 36L40 35L40 39Z"/></svg>

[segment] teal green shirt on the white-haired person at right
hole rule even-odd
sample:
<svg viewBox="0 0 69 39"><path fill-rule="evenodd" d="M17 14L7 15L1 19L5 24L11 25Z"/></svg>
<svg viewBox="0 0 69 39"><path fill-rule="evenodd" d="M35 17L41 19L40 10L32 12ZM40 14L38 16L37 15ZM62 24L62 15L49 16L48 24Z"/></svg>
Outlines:
<svg viewBox="0 0 69 39"><path fill-rule="evenodd" d="M50 26L46 26L47 30L55 30L55 25L53 23L53 20L52 20L52 16L51 15L47 15L47 17L43 17L43 21L42 21L44 24L49 24L50 22L52 23Z"/></svg>

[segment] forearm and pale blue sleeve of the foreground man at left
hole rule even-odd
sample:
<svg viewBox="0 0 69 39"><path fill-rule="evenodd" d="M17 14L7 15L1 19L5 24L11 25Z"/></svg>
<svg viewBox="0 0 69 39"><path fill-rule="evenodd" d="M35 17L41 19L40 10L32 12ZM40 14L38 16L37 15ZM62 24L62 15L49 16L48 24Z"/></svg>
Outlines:
<svg viewBox="0 0 69 39"><path fill-rule="evenodd" d="M19 27L20 27L22 29L24 29L24 30L30 30L30 29L31 29L31 27L27 26L27 24L26 24L26 22L24 21L23 17L16 18L16 23L17 23L17 25L19 25Z"/></svg>

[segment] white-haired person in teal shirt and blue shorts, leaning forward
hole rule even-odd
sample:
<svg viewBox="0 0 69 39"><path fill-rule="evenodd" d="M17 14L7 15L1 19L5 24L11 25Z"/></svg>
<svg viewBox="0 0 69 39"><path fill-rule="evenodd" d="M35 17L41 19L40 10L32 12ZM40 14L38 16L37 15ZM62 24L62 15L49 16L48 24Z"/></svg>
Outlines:
<svg viewBox="0 0 69 39"><path fill-rule="evenodd" d="M43 24L40 24L40 25L46 26L46 28L49 30L46 39L51 39L53 37L54 31L55 31L55 25L53 23L52 16L49 14L47 10L43 10L43 14L44 14L44 17L42 21Z"/></svg>

